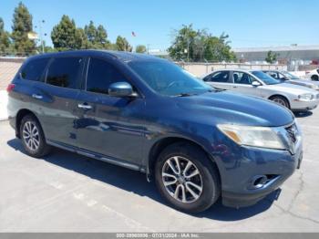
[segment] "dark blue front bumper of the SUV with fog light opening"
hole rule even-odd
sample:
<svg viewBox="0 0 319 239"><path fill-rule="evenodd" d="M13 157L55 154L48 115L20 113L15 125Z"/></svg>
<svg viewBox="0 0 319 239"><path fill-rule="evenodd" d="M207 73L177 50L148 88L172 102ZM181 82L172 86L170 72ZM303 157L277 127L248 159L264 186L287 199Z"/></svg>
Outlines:
<svg viewBox="0 0 319 239"><path fill-rule="evenodd" d="M303 142L299 140L293 151L244 147L227 142L213 147L221 174L221 200L225 206L245 207L262 200L277 190L303 159ZM256 178L268 181L256 184Z"/></svg>

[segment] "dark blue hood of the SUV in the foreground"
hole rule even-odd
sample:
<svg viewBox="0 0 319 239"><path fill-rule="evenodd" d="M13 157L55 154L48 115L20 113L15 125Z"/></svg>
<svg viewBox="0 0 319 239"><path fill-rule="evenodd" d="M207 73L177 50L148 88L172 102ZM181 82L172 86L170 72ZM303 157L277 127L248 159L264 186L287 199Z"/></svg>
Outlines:
<svg viewBox="0 0 319 239"><path fill-rule="evenodd" d="M293 113L267 99L244 96L230 91L208 92L177 99L188 118L207 123L277 127L290 124ZM184 116L182 116L184 117Z"/></svg>

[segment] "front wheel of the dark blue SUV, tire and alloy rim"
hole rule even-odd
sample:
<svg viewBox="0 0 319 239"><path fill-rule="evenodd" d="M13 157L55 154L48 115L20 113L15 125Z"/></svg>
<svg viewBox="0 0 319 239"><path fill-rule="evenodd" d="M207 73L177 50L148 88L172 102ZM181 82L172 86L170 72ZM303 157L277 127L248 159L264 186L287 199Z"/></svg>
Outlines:
<svg viewBox="0 0 319 239"><path fill-rule="evenodd" d="M174 173L170 167L172 165L173 169L179 172L176 159L179 161L180 175ZM191 165L187 169L189 162ZM163 173L170 176L163 176ZM194 175L190 177L192 174ZM171 144L160 153L155 164L155 182L161 196L174 208L185 213L201 213L211 207L221 195L221 180L216 165L201 148L187 142ZM170 185L165 186L164 182ZM190 190L195 194L190 193ZM176 191L177 196L174 196Z"/></svg>

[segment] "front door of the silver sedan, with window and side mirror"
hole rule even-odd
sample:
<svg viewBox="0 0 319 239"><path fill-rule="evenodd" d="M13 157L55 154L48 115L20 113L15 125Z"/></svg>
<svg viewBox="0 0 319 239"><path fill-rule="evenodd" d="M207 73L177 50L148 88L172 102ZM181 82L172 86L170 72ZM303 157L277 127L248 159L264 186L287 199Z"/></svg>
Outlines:
<svg viewBox="0 0 319 239"><path fill-rule="evenodd" d="M261 96L260 87L252 86L253 81L258 81L256 78L253 78L250 74L243 71L232 71L232 90L240 92L245 95L251 96ZM259 82L259 81L258 81Z"/></svg>

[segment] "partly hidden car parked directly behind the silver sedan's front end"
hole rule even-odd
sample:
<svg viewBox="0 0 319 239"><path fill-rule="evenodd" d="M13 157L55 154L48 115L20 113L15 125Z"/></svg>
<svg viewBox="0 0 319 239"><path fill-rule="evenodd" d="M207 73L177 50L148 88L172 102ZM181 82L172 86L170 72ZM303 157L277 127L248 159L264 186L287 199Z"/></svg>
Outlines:
<svg viewBox="0 0 319 239"><path fill-rule="evenodd" d="M284 83L298 85L306 88L312 88L319 91L319 81L301 79L285 70L262 70L272 78L282 80Z"/></svg>

